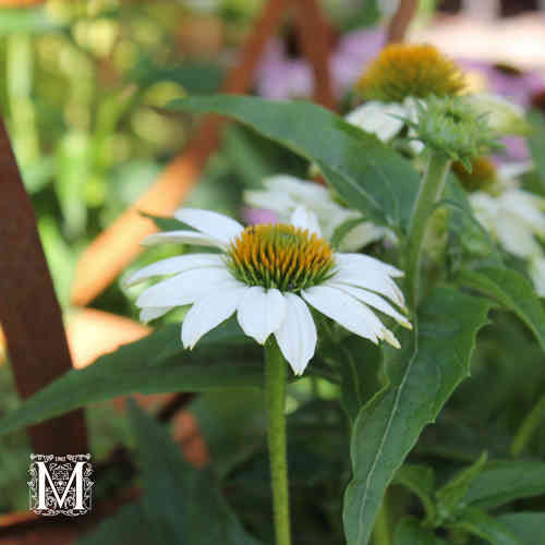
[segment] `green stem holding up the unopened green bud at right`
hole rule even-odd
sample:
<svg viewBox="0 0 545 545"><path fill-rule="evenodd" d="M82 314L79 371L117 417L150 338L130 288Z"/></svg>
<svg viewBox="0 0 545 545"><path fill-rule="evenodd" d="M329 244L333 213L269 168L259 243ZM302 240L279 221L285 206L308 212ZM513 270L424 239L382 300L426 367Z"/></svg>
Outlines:
<svg viewBox="0 0 545 545"><path fill-rule="evenodd" d="M427 222L441 196L449 168L450 159L447 155L443 153L432 155L411 214L407 243L405 286L409 306L413 312L416 311L419 303L420 266Z"/></svg>

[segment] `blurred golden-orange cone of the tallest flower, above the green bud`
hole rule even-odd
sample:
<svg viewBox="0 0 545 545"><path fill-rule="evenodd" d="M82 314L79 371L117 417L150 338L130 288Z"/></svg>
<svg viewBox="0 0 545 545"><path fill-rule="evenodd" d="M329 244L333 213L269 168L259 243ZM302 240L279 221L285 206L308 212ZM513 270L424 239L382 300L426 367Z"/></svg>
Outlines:
<svg viewBox="0 0 545 545"><path fill-rule="evenodd" d="M464 87L460 70L435 47L403 44L385 47L356 83L365 98L384 102L455 96Z"/></svg>

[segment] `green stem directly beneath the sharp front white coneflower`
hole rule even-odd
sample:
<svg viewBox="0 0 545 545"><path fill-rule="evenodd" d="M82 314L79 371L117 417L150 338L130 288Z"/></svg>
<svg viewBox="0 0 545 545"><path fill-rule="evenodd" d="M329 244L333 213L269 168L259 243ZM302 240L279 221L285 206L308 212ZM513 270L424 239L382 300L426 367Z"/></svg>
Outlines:
<svg viewBox="0 0 545 545"><path fill-rule="evenodd" d="M265 399L268 412L268 444L272 512L277 545L290 545L290 498L286 447L286 371L288 364L274 338L265 344Z"/></svg>

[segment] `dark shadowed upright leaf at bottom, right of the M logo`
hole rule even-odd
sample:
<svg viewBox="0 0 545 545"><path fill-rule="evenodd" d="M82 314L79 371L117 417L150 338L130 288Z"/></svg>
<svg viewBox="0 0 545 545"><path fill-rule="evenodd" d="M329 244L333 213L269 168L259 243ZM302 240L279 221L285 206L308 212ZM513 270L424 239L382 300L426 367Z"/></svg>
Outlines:
<svg viewBox="0 0 545 545"><path fill-rule="evenodd" d="M138 445L144 495L80 545L258 545L241 526L209 472L190 465L166 429L134 402L129 416Z"/></svg>

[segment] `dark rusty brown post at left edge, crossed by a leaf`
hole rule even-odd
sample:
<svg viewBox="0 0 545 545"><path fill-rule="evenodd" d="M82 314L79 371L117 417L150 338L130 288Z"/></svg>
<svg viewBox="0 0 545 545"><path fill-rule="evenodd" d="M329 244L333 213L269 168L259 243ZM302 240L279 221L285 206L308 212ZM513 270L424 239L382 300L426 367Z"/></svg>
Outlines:
<svg viewBox="0 0 545 545"><path fill-rule="evenodd" d="M72 368L62 313L41 249L34 210L0 119L0 323L22 398ZM84 453L83 411L28 429L37 453Z"/></svg>

